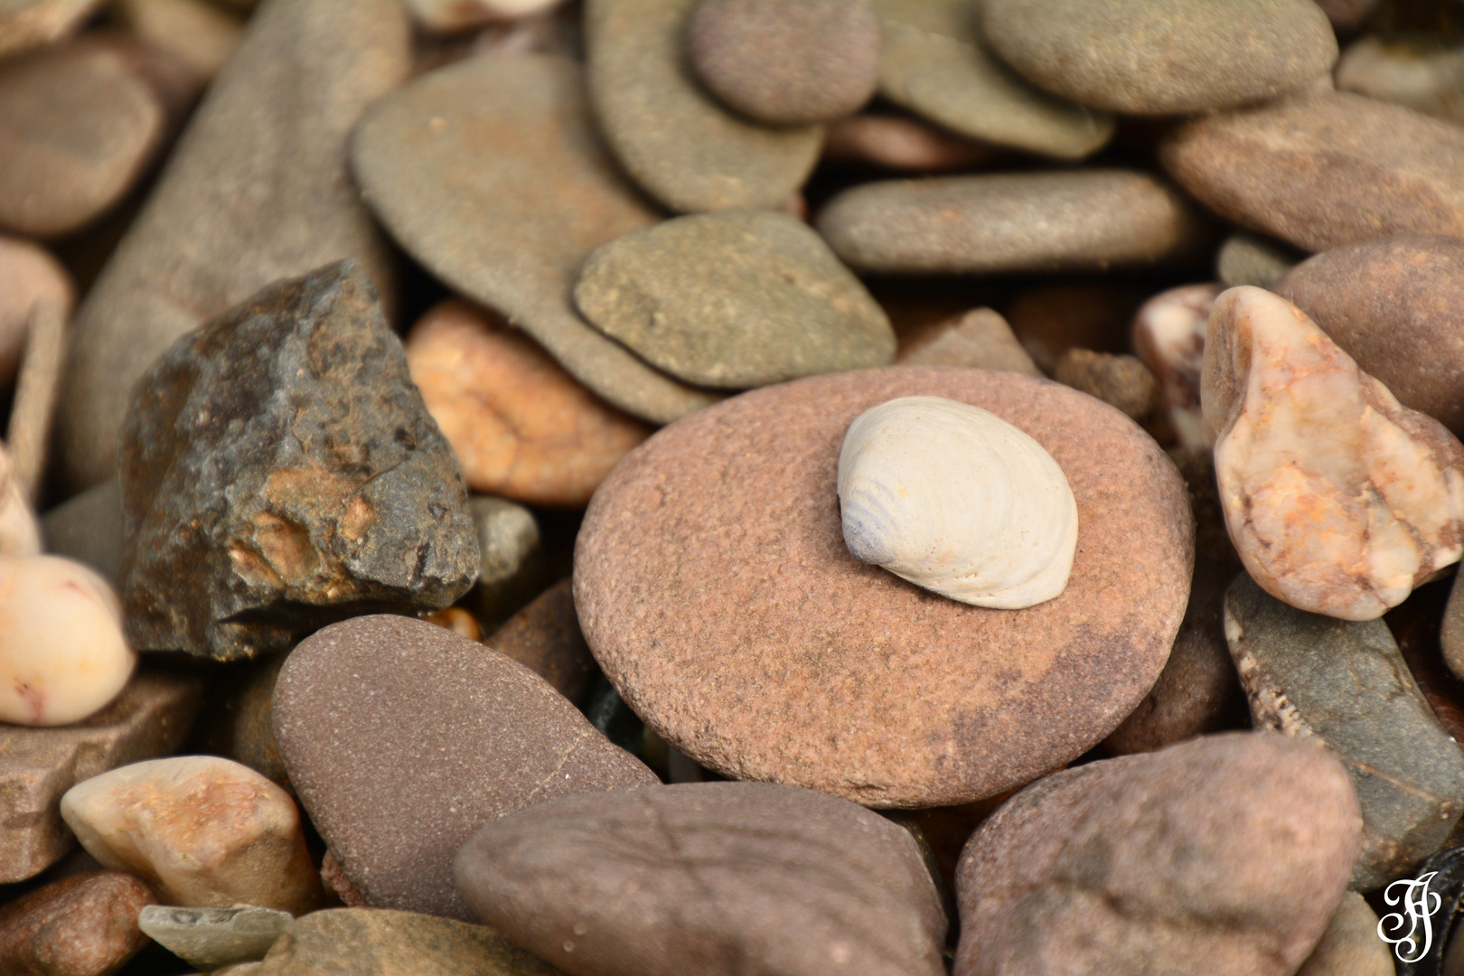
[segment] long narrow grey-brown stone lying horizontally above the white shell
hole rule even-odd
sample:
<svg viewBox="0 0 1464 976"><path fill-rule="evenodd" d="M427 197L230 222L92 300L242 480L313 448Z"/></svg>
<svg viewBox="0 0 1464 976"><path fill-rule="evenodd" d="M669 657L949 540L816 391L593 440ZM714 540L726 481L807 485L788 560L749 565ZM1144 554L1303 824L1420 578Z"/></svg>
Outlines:
<svg viewBox="0 0 1464 976"><path fill-rule="evenodd" d="M846 263L884 274L1142 268L1205 239L1180 193L1127 170L865 183L826 203L815 225Z"/></svg>

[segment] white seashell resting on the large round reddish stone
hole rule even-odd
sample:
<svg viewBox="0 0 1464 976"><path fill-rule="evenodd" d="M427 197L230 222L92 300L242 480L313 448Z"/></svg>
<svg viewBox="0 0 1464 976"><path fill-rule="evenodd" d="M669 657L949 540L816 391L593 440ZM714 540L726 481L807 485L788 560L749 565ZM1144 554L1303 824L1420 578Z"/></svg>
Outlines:
<svg viewBox="0 0 1464 976"><path fill-rule="evenodd" d="M960 603L1035 606L1073 569L1078 502L1057 461L955 399L900 397L855 417L839 506L855 559Z"/></svg>

